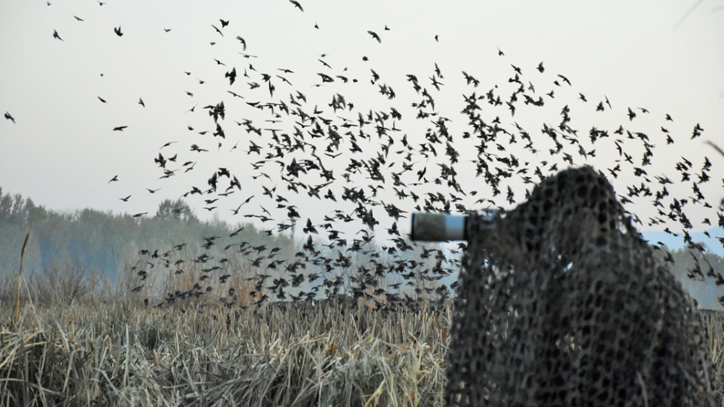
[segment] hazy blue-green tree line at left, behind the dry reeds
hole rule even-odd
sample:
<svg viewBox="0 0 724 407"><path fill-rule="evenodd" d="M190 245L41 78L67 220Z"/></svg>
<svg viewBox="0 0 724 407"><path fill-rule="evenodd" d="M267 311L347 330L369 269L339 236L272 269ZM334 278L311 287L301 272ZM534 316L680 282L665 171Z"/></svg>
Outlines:
<svg viewBox="0 0 724 407"><path fill-rule="evenodd" d="M183 200L164 200L155 215L138 218L93 209L59 213L20 194L3 194L0 187L0 274L17 273L22 242L31 227L24 270L42 271L53 262L72 262L99 270L111 280L128 261L138 259L142 249L153 253L186 244L184 249L192 255L203 250L213 256L241 241L273 245L285 252L296 248L290 237L268 236L251 223L202 222ZM242 227L243 231L229 236ZM204 238L211 236L217 237L214 246L202 248L207 244Z"/></svg>

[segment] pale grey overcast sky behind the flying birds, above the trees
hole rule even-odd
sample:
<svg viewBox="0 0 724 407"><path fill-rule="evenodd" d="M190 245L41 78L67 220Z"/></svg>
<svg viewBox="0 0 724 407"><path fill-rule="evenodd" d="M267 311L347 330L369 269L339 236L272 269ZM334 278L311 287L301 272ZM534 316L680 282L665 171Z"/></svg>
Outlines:
<svg viewBox="0 0 724 407"><path fill-rule="evenodd" d="M434 110L450 119L448 126L457 137L454 145L461 153L458 168L461 184L466 184L468 191L480 189L481 194L485 194L486 189L475 187L482 179L476 179L474 171L471 173L474 166L469 162L476 158L475 151L471 150L474 143L460 140L460 134L470 130L466 128L466 118L460 114L464 106L462 95L473 91L484 95L498 85L500 92L496 90L496 93L506 100L510 95L508 90L515 86L508 82L508 78L515 75L511 64L521 68L523 84L528 87L529 81L532 82L535 95L541 95L546 106L536 109L519 103L518 112L511 116L505 105L490 110L481 100L484 111L488 109L487 114L491 115L488 121L500 116L502 125L509 129L515 122L533 137L546 138L540 132L542 124L557 125L560 110L567 105L571 108L571 127L581 132L582 140L588 138L588 131L594 126L613 132L623 124L632 132L649 134L657 145L652 166L647 167L649 178L665 175L678 181L680 176L673 169L677 160L686 156L694 163L692 173L695 173L707 156L712 161L712 181L703 184L702 191L712 205L724 197L720 181L724 157L703 143L703 140L712 140L724 145L722 1L702 2L676 30L674 27L696 1L590 4L581 1L300 0L303 12L287 0L108 0L102 6L90 0L51 0L50 3L35 0L0 3L0 113L7 111L16 121L0 121L0 186L4 192L20 193L52 209L93 207L152 215L163 199L175 200L191 186L208 188L206 180L210 174L216 168L225 167L239 177L243 188L230 197L222 197L214 204L217 207L214 211L203 210L204 206L208 207L203 200L211 196L188 197L202 218L217 214L235 223L248 220L240 217L245 213L261 213L259 205L272 210L276 202L261 197L262 185L277 186L277 193L283 192L284 197L300 207L302 220L309 217L319 222L337 207L350 212L355 205L345 207L308 197L304 191L299 195L287 191L276 164L253 171L250 163L273 151L268 147L271 132L265 131L261 137L248 134L233 121L253 119L256 127L294 132L294 121L298 117L282 115L280 123L265 122L273 119L269 111L258 111L245 102L284 100L288 103L290 94L300 91L309 99L310 106L305 107L308 113L318 104L324 110L321 116L334 119L337 125L344 123L338 117L356 121L358 111L366 114L372 108L389 112L390 106L396 106L405 115L397 124L404 131L391 134L397 144L390 150L400 150L402 133L408 134L411 143L414 140L418 147L424 142L426 128L433 125L429 120L414 120L417 110L411 108L410 103L419 101L420 97L406 74L416 74L421 85L434 93ZM228 20L229 25L222 27L220 19ZM211 25L219 27L223 36ZM122 37L114 33L114 27L119 26ZM62 40L54 38L54 30ZM377 33L381 43L374 40L368 30ZM235 39L237 35L245 39L246 51ZM500 56L498 49L505 56ZM245 58L240 52L255 57ZM322 54L325 56L321 57ZM368 61L363 61L363 56ZM536 70L541 61L544 73ZM435 74L436 63L443 75L438 78L439 82L445 84L439 91L429 79ZM256 71L251 70L250 64ZM224 73L232 67L238 74L234 85L224 78ZM278 69L290 69L294 73ZM374 85L370 83L370 69L380 76ZM250 77L243 77L245 70ZM479 87L467 85L461 71L476 77L481 82ZM276 87L273 97L269 97L261 73L271 75ZM316 87L321 84L318 73L345 76L350 82L345 84L337 78L335 82ZM277 74L292 85L282 82ZM572 86L554 85L554 80L560 81L557 74L571 80ZM353 83L353 78L358 82ZM251 90L248 84L253 82L261 87ZM392 87L397 97L390 100L380 95L382 84ZM233 97L227 90L244 99ZM555 91L555 98L545 95L551 90ZM186 92L193 93L193 97ZM353 100L355 108L333 112L327 105L337 93ZM586 96L587 103L579 99L579 93ZM139 98L143 98L145 108L138 104ZM604 112L597 112L597 103L605 98L613 108L606 106ZM222 147L218 147L219 139L210 134L214 132L214 122L203 106L216 105L222 100L227 113L219 123L227 137L222 140ZM196 105L195 111L188 112ZM633 121L627 116L629 107L638 112ZM637 110L639 107L647 108L650 113ZM667 113L673 121L665 121ZM703 127L704 134L689 140L696 124ZM127 128L114 132L114 127L119 126ZM665 145L665 134L660 127L670 131L675 140L673 145ZM201 131L209 134L198 134ZM309 137L306 140L319 145L318 155L326 145L324 139L320 140ZM523 150L525 143L520 141L513 145L503 143L508 146L506 154L534 163L532 168L540 160L547 160L548 166L561 162L560 169L567 166L560 161L560 156L547 153L550 145L541 142L539 153L531 154ZM159 179L163 173L153 158L166 142L176 143L160 150L164 157L179 156L177 163L169 163L167 167L180 171L169 179ZM237 150L230 151L237 142ZM247 154L250 142L264 147L261 156ZM350 145L343 144L341 157L322 156L337 176L329 188L334 189L338 201L342 187L370 184L363 177L345 184L340 175L348 165L348 158L374 157L380 142L384 142L384 137L378 140L373 135L364 143L362 154L350 155ZM606 168L613 168L620 157L611 147L613 144L607 143L607 147L586 144L586 150L597 148L597 155L585 159L576 156L576 165L589 163L604 172ZM192 144L210 151L190 152ZM575 151L575 148L571 150ZM641 151L631 155L640 160ZM287 155L285 162L291 157ZM401 171L402 160L392 159L394 153L390 153L390 157L390 162L399 163L387 172ZM188 160L196 164L193 171L184 173L188 167L181 164ZM412 162L415 163L413 171L405 174L411 176L408 183L417 179L414 173L425 165L426 158L416 154ZM434 162L429 161L427 178L431 181L439 173ZM252 178L261 172L268 173L272 180L264 176ZM640 182L630 171L623 172L615 180L619 193L626 191L626 185ZM114 176L118 176L119 181L109 184ZM415 202L394 199L389 177L387 180L385 193L389 195L381 192L382 200L388 197L397 207L414 210ZM520 177L516 180L510 182L516 200L520 201L523 190L530 186L523 184ZM150 194L146 188L161 190ZM419 188L421 192L434 190ZM690 195L691 192L686 192L689 189L687 183L681 194ZM675 186L670 190L673 192ZM368 193L371 194L369 190ZM129 202L119 200L127 195L132 195ZM232 209L251 195L256 195L255 200L239 215L232 215ZM464 203L476 207L473 202L480 197L468 196ZM497 205L508 205L505 190L495 199ZM643 219L654 214L650 206L647 199L627 208ZM695 231L708 228L700 224L703 218L710 218L716 224L714 210L701 207L692 210L698 217ZM376 209L379 218L384 218L383 213L382 208ZM285 218L285 210L278 210L274 215ZM385 220L384 224L389 223ZM407 222L400 223L404 230Z"/></svg>

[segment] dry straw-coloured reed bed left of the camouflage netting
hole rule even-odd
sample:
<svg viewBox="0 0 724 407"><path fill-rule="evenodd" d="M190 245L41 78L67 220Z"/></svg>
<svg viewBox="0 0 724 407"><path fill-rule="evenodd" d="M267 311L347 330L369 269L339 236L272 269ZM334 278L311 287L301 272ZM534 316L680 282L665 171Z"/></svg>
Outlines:
<svg viewBox="0 0 724 407"><path fill-rule="evenodd" d="M0 331L7 406L439 406L449 309L27 307Z"/></svg>

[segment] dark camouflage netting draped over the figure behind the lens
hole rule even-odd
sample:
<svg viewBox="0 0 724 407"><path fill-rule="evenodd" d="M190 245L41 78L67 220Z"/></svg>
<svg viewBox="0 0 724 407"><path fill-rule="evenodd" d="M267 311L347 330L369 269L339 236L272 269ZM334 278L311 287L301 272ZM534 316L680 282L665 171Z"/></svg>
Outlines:
<svg viewBox="0 0 724 407"><path fill-rule="evenodd" d="M604 176L563 171L471 221L447 406L714 406L696 306Z"/></svg>

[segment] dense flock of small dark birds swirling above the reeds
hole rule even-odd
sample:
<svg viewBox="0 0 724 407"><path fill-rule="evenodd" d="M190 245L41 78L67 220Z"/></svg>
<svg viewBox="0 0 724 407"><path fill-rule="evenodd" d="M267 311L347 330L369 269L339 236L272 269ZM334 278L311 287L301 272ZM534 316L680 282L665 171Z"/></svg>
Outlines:
<svg viewBox="0 0 724 407"><path fill-rule="evenodd" d="M289 1L290 7L304 12L298 1ZM206 204L203 209L209 212L230 210L233 215L253 218L269 236L293 235L298 222L303 222L301 230L306 239L302 239L305 243L298 252L287 258L281 258L284 252L281 247L267 247L254 241L235 241L215 252L222 255L212 256L209 250L221 239L219 236L197 242L206 252L194 253L191 257L185 252L186 244L174 245L161 253L156 249L141 250L140 260L131 268L139 280L132 291L143 290L145 280L156 266L182 274L184 269L188 272L193 263L193 267L202 272L193 287L167 293L159 305L207 295L214 291L212 281L219 283L216 294L222 295L224 304L236 304L239 288L230 286L233 279L229 270L232 263L238 261L245 261L257 270L251 279L254 289L249 293L257 304L267 299L320 299L341 290L354 299L366 299L383 309L400 303L417 304L421 297L445 301L452 295L450 288L455 288L455 284L450 287L443 282L449 281L446 278L459 269L459 254L465 244L451 249L411 241L397 228L400 219L406 218L405 214L413 210L473 213L487 207L500 208L504 213L505 207L528 197L536 182L557 173L563 166L585 165L597 156L612 158L607 161L610 166L601 171L613 181L625 207L647 202L645 205L655 208L657 215L648 219L631 212L633 222L639 226L666 225L665 231L681 236L689 249L699 252L705 248L691 239L690 231L695 226L686 212L696 211L696 217L703 218L700 221L707 226L712 226L712 220L724 226L724 215L707 202L701 188L711 181L713 164L709 158L695 163L682 156L671 168L675 175L654 173L650 169L657 147L698 142L695 139L704 131L699 124L691 134L673 134L663 126L657 134L646 134L639 129L637 119L654 114L647 108L627 106L617 111L606 95L602 95L598 103L589 103L590 96L573 91L573 81L563 74L551 75L543 62L533 67L510 64L509 77L489 90L481 90L479 86L489 82L489 78L478 79L468 73L469 70L448 74L437 63L428 74L418 77L410 73L404 78L385 78L369 66L364 69L367 74L361 80L347 68L332 68L323 54L314 57L319 61L320 72L314 76L319 82L313 86L312 97L307 90L302 92L292 85L297 75L294 70L263 68L264 61L246 53L247 48L253 48L253 42L240 35L234 38L230 33L233 21L219 22L220 27L215 22L209 24L209 35L214 35L211 44L219 38L237 41L240 56L219 56L224 61L209 61L217 77L197 80L200 84L214 81L219 88L225 88L218 100L202 102L203 108L196 110L197 104L186 112L208 115L206 129L187 127L189 132L205 138L185 146L180 140L166 142L159 152L153 153L153 161L161 179L182 178L184 173L195 169L198 161L216 160L212 155L214 150L220 153L222 145L233 143L228 154L244 160L248 167L219 167L208 173L206 184L189 185L188 192L182 196L192 199L198 195ZM120 25L112 28L119 38L124 35ZM171 31L163 29L166 33ZM319 25L315 24L314 29L319 29ZM384 33L390 30L384 26ZM373 30L367 33L370 40L383 46L384 35ZM56 30L53 37L63 40ZM431 35L430 40L439 41L439 37ZM501 61L506 58L500 48L491 53ZM363 64L373 63L367 56L361 55L361 60ZM183 74L190 77L192 72ZM393 80L403 80L403 85L395 85L397 90L393 90ZM439 107L437 94L451 81L466 86L460 110L462 119L449 119L436 109ZM405 98L414 101L407 108L361 110L359 106L364 100L358 102L334 91L326 96L326 106L312 106L313 101L308 102L308 97L310 100L321 98L319 92L332 84L335 90L345 86L371 87L384 103L393 103L404 86ZM180 92L194 98L193 92ZM572 92L578 95L566 101L566 95ZM98 99L106 103L103 98ZM571 125L573 103L578 104L576 109L587 108L594 113L623 114L616 127L592 127L585 134L579 134ZM146 107L141 98L138 104ZM554 104L560 107L556 125L546 122L539 132L529 132L516 121L534 109ZM237 119L230 123L227 115ZM660 116L662 122L673 121L668 113ZM10 113L5 113L5 118L15 121ZM405 127L421 130L405 131ZM125 129L125 125L112 127L115 132ZM174 150L167 153L167 149ZM618 181L622 173L626 176L621 179L633 179L633 184L621 185ZM119 176L113 176L109 184L115 181L119 181ZM245 186L255 182L263 193L245 194L236 199L245 193ZM689 192L675 197L668 189L675 186L685 186ZM147 190L151 194L159 191ZM119 199L128 202L130 197ZM303 216L301 212L319 205L314 203L317 200L335 202L336 209L323 215ZM714 213L718 218L714 218ZM134 217L146 214L137 213ZM313 221L315 217L319 221ZM303 218L306 221L300 221ZM272 224L274 226L266 226ZM348 232L353 229L350 225L358 226L355 228L358 231ZM384 234L376 235L381 228ZM239 232L230 234L229 239ZM724 238L719 240L724 244ZM652 244L660 246L660 242ZM702 268L697 263L689 274L703 279L705 275L714 278L718 273L711 266ZM724 279L721 281L724 283ZM388 285L382 286L385 282ZM407 286L411 288L405 291Z"/></svg>

